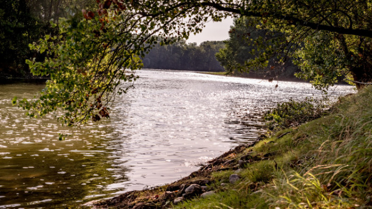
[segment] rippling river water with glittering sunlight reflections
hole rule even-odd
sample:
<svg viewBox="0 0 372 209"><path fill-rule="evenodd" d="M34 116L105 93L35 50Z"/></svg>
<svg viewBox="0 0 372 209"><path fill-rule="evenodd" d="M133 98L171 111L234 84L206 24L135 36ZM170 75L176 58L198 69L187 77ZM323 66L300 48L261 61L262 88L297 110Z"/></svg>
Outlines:
<svg viewBox="0 0 372 209"><path fill-rule="evenodd" d="M141 70L111 118L60 127L29 119L11 99L43 85L0 85L0 209L76 208L130 190L171 183L262 132L263 111L289 98L320 97L308 83L184 71ZM338 86L332 97L352 93ZM71 134L58 141L57 133Z"/></svg>

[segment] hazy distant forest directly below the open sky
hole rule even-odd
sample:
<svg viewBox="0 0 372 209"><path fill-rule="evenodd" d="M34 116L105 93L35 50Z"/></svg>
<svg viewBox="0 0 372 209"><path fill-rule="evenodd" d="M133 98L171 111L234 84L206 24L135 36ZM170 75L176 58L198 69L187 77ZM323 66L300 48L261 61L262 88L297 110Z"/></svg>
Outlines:
<svg viewBox="0 0 372 209"><path fill-rule="evenodd" d="M215 54L224 48L223 41L205 41L200 45L176 42L157 44L142 59L143 68L223 72Z"/></svg>

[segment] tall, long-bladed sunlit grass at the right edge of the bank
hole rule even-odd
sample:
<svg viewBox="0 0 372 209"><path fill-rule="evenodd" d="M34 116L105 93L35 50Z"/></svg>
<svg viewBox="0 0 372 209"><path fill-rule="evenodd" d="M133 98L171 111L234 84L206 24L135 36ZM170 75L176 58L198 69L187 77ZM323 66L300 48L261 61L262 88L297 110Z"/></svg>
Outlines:
<svg viewBox="0 0 372 209"><path fill-rule="evenodd" d="M341 99L332 115L299 128L307 137L296 147L303 150L298 157L305 160L309 152L315 157L304 163L306 169L297 167L276 178L274 185L282 191L276 203L290 208L372 207L371 90ZM310 147L304 146L306 141Z"/></svg>

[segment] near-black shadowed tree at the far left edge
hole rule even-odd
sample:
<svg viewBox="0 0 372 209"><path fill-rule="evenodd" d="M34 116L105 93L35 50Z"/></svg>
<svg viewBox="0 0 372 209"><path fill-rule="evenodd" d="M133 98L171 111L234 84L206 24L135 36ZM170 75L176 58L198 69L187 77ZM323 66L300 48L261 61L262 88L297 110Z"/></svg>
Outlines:
<svg viewBox="0 0 372 209"><path fill-rule="evenodd" d="M16 76L27 72L28 43L40 38L45 25L33 17L25 0L0 3L0 72Z"/></svg>

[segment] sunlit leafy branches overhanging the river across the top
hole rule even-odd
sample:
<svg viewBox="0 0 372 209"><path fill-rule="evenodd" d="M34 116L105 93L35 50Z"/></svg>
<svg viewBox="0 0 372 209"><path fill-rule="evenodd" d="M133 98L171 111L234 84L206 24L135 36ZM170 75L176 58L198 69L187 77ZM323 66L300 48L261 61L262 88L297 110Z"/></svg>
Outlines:
<svg viewBox="0 0 372 209"><path fill-rule="evenodd" d="M61 108L66 124L108 116L119 84L133 81L134 74L126 74L125 68L139 69L138 57L157 43L187 38L209 19L226 16L246 16L249 26L268 31L252 41L256 56L244 63L246 69L267 66L271 58L278 64L293 58L302 70L298 76L319 88L349 75L357 82L372 80L371 0L97 2L96 11L82 10L82 15L60 20L63 37L46 36L33 46L54 58L28 61L34 74L51 76L38 100L19 103L30 115ZM332 53L322 56L324 51Z"/></svg>

